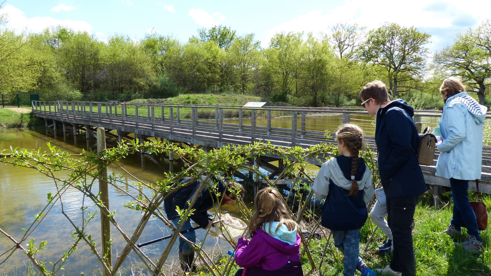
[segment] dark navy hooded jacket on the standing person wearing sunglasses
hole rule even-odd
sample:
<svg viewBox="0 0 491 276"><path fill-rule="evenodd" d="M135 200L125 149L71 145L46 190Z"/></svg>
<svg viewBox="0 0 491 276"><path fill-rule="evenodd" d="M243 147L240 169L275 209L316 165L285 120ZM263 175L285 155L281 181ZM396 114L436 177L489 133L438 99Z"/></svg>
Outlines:
<svg viewBox="0 0 491 276"><path fill-rule="evenodd" d="M377 111L375 142L383 191L388 198L426 192L415 150L419 138L414 110L397 99Z"/></svg>

